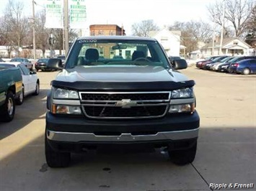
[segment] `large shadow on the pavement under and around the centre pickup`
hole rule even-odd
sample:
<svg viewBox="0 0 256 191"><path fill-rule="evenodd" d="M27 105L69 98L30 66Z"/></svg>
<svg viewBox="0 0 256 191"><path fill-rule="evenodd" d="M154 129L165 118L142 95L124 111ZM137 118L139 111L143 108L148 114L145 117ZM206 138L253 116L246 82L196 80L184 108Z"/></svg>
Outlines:
<svg viewBox="0 0 256 191"><path fill-rule="evenodd" d="M52 169L43 134L40 127L39 136L1 158L1 190L209 190L211 182L256 183L254 127L202 127L195 161L182 167L160 150L106 150L72 154L70 167Z"/></svg>

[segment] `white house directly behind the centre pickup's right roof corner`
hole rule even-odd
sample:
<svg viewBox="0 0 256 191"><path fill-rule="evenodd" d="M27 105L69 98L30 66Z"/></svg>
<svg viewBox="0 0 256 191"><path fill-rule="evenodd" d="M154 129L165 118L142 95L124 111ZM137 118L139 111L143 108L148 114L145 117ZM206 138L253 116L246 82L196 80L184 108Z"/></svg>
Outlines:
<svg viewBox="0 0 256 191"><path fill-rule="evenodd" d="M180 49L185 52L185 47L180 45L180 36L180 31L169 31L165 28L149 32L149 37L156 39L164 47L168 56L180 56Z"/></svg>

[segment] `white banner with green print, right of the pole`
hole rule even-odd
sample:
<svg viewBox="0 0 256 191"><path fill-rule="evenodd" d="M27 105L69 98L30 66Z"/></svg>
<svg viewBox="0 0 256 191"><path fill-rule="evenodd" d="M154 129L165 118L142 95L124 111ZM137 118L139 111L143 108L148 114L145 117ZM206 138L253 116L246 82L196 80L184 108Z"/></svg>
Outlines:
<svg viewBox="0 0 256 191"><path fill-rule="evenodd" d="M85 0L69 0L69 27L84 29L87 20Z"/></svg>

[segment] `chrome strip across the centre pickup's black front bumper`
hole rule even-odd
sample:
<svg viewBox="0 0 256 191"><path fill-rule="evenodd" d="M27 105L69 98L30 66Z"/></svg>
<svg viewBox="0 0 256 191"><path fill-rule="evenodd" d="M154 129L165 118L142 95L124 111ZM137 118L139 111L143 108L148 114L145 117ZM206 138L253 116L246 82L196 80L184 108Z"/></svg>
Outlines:
<svg viewBox="0 0 256 191"><path fill-rule="evenodd" d="M198 129L185 131L167 131L149 135L121 134L120 136L99 136L93 133L71 133L59 131L47 131L47 138L51 141L79 142L79 141L160 141L160 140L180 140L193 139L198 137Z"/></svg>

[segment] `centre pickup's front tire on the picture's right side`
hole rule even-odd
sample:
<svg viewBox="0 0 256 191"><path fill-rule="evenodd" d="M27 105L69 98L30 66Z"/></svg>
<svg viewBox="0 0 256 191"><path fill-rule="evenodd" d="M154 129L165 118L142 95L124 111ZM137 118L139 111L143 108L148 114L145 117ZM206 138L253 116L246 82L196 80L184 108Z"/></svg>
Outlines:
<svg viewBox="0 0 256 191"><path fill-rule="evenodd" d="M170 160L177 165L185 165L193 162L197 149L197 141L189 149L170 150L168 149Z"/></svg>

